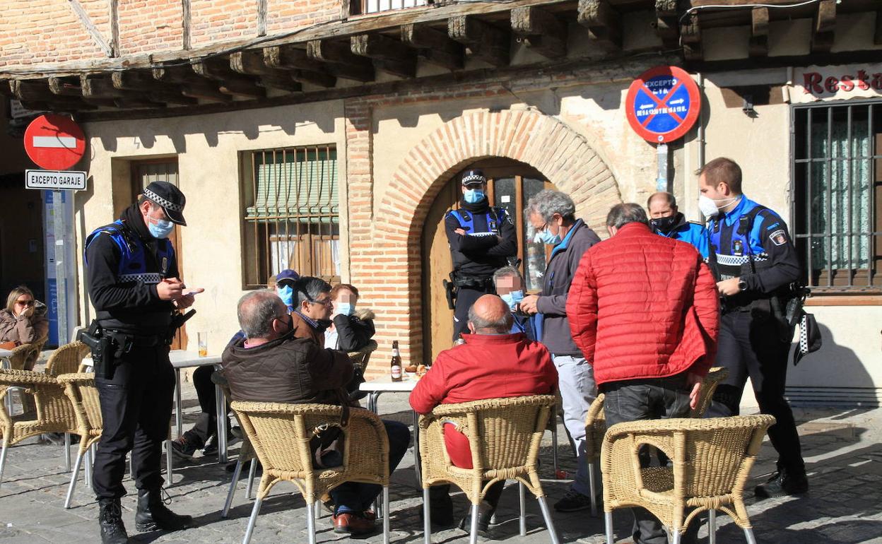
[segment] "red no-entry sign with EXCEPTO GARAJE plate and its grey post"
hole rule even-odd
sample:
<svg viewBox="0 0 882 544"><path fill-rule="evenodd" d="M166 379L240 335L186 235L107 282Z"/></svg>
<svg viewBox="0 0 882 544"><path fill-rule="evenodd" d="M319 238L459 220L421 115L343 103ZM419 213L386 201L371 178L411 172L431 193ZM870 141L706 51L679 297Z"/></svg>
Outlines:
<svg viewBox="0 0 882 544"><path fill-rule="evenodd" d="M73 220L72 198L63 191L85 190L86 172L67 171L86 153L86 136L69 117L47 114L39 116L25 130L25 151L27 156L46 170L27 170L25 187L35 190L51 190L51 236L47 241L54 243L53 251L47 248L49 264L55 265L56 304L49 304L50 320L52 310L56 313L56 344L62 346L70 339L68 325L68 299L72 298L69 288L73 275ZM49 195L47 195L49 197ZM47 198L49 200L49 198ZM48 210L47 210L48 211ZM49 224L47 224L49 227ZM49 231L49 228L47 228ZM51 257L54 257L51 258ZM51 272L49 273L51 276ZM47 292L51 295L52 281L47 280Z"/></svg>

